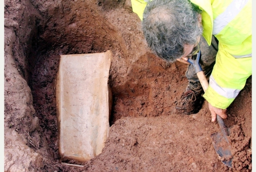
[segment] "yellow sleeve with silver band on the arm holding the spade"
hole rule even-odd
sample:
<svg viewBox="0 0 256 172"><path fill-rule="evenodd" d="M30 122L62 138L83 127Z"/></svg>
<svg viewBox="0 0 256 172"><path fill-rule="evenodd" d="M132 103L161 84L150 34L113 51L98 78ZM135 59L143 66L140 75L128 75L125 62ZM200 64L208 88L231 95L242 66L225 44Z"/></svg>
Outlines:
<svg viewBox="0 0 256 172"><path fill-rule="evenodd" d="M252 75L252 57L234 58L219 44L216 64L210 76L209 87L203 97L214 107L226 109L244 88Z"/></svg>

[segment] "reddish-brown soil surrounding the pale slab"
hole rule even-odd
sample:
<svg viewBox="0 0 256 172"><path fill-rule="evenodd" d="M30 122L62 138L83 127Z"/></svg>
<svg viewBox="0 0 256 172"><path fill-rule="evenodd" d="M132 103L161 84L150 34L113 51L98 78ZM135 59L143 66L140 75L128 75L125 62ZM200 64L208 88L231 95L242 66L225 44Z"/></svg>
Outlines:
<svg viewBox="0 0 256 172"><path fill-rule="evenodd" d="M130 0L5 0L4 169L6 172L251 172L252 78L227 110L233 168L210 135L205 101L197 114L176 114L187 65L147 48ZM62 54L113 52L110 133L85 162L58 154L55 80ZM77 93L79 94L79 93ZM75 164L68 166L63 163Z"/></svg>

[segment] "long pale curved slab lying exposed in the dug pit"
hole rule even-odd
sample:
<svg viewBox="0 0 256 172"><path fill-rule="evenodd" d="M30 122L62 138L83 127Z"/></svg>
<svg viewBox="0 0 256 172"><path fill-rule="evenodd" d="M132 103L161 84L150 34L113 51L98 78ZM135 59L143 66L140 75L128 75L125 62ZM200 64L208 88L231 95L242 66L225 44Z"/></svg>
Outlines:
<svg viewBox="0 0 256 172"><path fill-rule="evenodd" d="M61 55L56 80L59 154L88 161L102 152L109 130L112 52Z"/></svg>

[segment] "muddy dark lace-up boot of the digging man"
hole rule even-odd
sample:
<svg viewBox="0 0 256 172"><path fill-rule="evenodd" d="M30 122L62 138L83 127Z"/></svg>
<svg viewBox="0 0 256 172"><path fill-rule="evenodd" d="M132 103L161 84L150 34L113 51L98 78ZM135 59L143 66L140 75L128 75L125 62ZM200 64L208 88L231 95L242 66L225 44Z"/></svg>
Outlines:
<svg viewBox="0 0 256 172"><path fill-rule="evenodd" d="M189 82L176 104L177 114L196 114L203 105L203 88L200 83Z"/></svg>

